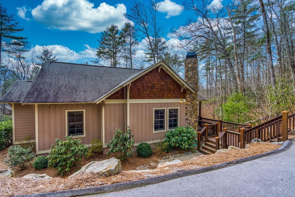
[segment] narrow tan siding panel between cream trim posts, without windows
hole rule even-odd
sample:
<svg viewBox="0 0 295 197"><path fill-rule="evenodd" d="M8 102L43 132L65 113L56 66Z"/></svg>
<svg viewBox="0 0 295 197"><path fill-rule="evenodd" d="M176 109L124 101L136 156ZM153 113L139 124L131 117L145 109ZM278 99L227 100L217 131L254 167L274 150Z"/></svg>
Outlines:
<svg viewBox="0 0 295 197"><path fill-rule="evenodd" d="M121 128L124 132L125 110L124 103L105 104L105 143L113 139L116 128Z"/></svg>

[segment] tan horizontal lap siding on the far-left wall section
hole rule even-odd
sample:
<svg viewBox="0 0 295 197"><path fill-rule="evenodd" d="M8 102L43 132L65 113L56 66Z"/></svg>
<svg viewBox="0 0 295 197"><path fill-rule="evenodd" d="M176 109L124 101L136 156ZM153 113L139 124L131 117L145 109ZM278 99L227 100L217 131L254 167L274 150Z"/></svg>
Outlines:
<svg viewBox="0 0 295 197"><path fill-rule="evenodd" d="M14 135L15 141L32 135L30 140L35 140L35 106L14 104Z"/></svg>

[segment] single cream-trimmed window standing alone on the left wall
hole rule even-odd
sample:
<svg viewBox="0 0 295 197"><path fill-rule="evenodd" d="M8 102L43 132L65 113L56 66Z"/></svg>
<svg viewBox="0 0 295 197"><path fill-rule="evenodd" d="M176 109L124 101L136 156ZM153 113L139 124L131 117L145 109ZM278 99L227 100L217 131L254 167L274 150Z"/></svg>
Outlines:
<svg viewBox="0 0 295 197"><path fill-rule="evenodd" d="M85 136L85 110L66 110L66 135Z"/></svg>

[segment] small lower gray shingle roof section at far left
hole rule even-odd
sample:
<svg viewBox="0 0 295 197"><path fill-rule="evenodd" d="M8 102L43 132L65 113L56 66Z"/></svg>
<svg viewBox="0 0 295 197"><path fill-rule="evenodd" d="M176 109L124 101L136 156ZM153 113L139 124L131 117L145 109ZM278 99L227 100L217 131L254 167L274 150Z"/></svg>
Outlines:
<svg viewBox="0 0 295 197"><path fill-rule="evenodd" d="M1 103L20 103L32 81L15 81L9 90L0 99Z"/></svg>

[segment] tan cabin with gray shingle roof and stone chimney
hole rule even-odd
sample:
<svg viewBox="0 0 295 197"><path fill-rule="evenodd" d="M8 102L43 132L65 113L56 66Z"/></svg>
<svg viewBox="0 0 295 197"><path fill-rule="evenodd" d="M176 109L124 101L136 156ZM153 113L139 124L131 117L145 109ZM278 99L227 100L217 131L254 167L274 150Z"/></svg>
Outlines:
<svg viewBox="0 0 295 197"><path fill-rule="evenodd" d="M191 125L197 130L201 101L198 61L185 60L185 80L161 61L144 70L45 62L33 81L16 81L0 99L12 107L13 144L26 135L36 153L48 154L66 135L89 146L105 143L127 126L135 146L163 141L168 130Z"/></svg>

